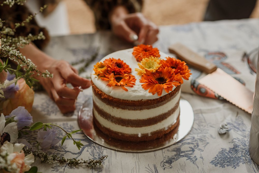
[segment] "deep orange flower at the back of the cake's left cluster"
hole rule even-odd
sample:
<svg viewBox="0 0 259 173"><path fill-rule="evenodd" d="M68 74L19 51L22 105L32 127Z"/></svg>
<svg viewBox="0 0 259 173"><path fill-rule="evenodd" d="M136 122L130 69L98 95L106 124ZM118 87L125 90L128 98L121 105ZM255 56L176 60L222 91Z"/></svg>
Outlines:
<svg viewBox="0 0 259 173"><path fill-rule="evenodd" d="M131 73L131 68L125 62L120 59L109 58L104 60L104 64L107 67L109 73L123 75L125 73Z"/></svg>

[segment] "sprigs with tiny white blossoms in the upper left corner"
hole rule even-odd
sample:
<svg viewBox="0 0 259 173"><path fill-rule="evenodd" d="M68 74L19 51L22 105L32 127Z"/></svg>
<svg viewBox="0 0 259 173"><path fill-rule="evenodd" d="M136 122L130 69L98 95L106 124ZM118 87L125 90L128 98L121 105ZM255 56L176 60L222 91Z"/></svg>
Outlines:
<svg viewBox="0 0 259 173"><path fill-rule="evenodd" d="M12 7L14 4L23 5L25 0L6 0L2 4L3 5L9 5ZM28 34L26 37L15 36L16 29L20 26L24 26L26 23L30 23L30 21L40 12L42 12L44 9L47 8L47 5L44 5L40 8L39 12L34 13L34 15L28 16L24 21L21 23L15 23L15 27L9 28L4 26L4 20L0 19L0 38L1 38L1 44L0 46L0 58L1 57L7 57L7 60L3 63L0 63L0 73L4 70L5 72L9 72L10 74L15 74L16 79L24 78L26 84L29 87L32 87L36 80L32 76L35 74L37 76L42 77L53 77L52 74L50 74L47 70L46 72L41 72L37 69L37 66L30 60L26 59L25 56L23 56L19 48L23 48L26 45L30 44L32 41L35 40L44 40L45 36L43 35L43 32L40 32L38 35L32 35ZM8 59L16 62L18 64L17 69L12 69L10 64L8 64ZM21 70L23 68L23 70ZM15 80L13 82L17 82L18 80ZM4 98L3 89L6 88L8 85L0 84L0 97Z"/></svg>

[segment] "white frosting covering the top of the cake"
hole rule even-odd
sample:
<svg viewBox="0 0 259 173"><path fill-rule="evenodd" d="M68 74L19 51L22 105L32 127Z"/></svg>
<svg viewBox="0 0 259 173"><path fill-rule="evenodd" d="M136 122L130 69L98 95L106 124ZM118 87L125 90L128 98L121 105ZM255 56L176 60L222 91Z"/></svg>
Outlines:
<svg viewBox="0 0 259 173"><path fill-rule="evenodd" d="M91 75L92 82L97 86L97 88L99 88L105 94L112 96L114 98L119 98L119 99L123 99L123 100L141 100L141 99L159 98L157 93L155 95L152 95L152 93L149 93L148 90L144 90L142 88L141 84L143 84L143 83L139 82L141 76L137 75L137 72L135 71L135 68L139 68L138 62L132 55L132 52L133 52L132 48L125 49L122 51L117 51L117 52L114 52L114 53L111 53L111 54L105 56L101 60L101 62L103 62L105 59L115 58L115 59L121 59L126 64L128 64L130 66L130 68L132 69L131 74L134 75L136 78L136 85L134 85L132 88L126 86L128 91L124 91L120 86L113 86L113 87L106 86L108 84L108 82L102 81L100 78L98 78L97 75L93 75L93 74L95 74L94 71L92 72L92 75ZM160 52L160 55L161 55L161 57L160 57L161 59L165 59L168 56L162 52ZM173 90L174 89L175 89L175 87L173 88ZM163 89L162 96L164 96L166 94L167 93Z"/></svg>

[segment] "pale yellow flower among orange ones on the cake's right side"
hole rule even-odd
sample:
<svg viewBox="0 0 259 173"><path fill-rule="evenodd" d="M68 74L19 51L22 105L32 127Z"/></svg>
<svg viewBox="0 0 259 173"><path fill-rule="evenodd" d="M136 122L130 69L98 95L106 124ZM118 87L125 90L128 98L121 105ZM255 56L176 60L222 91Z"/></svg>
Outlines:
<svg viewBox="0 0 259 173"><path fill-rule="evenodd" d="M149 70L150 72L156 72L158 68L161 66L160 59L157 57L150 56L149 58L143 58L140 63L138 63L138 66L140 69L135 68L135 71L137 71L138 75L142 75L146 73L146 70Z"/></svg>

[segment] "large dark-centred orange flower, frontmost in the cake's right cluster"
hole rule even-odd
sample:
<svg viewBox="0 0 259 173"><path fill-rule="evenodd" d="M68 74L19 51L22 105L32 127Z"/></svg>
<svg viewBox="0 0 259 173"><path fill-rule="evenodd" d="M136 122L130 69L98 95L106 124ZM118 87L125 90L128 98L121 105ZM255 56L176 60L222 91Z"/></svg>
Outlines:
<svg viewBox="0 0 259 173"><path fill-rule="evenodd" d="M140 78L142 88L151 92L152 95L157 93L158 96L162 95L163 89L169 93L172 91L173 85L180 85L179 81L182 79L180 74L175 75L174 70L166 67L155 73L146 70L146 73L143 74Z"/></svg>

